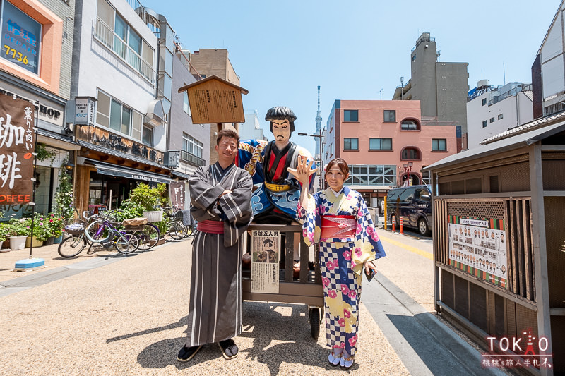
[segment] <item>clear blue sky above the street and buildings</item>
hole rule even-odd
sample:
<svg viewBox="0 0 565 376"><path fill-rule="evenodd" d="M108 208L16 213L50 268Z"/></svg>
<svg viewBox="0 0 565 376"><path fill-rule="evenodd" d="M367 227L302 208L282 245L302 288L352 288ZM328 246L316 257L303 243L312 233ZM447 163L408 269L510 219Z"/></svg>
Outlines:
<svg viewBox="0 0 565 376"><path fill-rule="evenodd" d="M441 61L468 62L470 89L531 81L530 68L559 0L140 0L164 15L185 49L224 48L239 75L246 110L264 121L273 106L316 127L317 86L325 125L335 99L392 99L410 78L410 50L422 32ZM379 90L382 90L380 93ZM314 151L314 138L292 135Z"/></svg>

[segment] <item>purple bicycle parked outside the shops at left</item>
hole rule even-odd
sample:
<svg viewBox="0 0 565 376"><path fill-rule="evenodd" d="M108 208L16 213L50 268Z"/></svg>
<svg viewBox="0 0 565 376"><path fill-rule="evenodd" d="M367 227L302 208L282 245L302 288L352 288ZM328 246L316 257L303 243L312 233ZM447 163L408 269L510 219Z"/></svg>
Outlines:
<svg viewBox="0 0 565 376"><path fill-rule="evenodd" d="M98 216L96 221L89 224L86 228L84 234L88 241L91 242L88 253L94 252L94 245L101 245L105 249L114 247L119 253L124 255L135 252L139 246L138 237L117 229L114 223L109 221L110 215L112 215L112 212Z"/></svg>

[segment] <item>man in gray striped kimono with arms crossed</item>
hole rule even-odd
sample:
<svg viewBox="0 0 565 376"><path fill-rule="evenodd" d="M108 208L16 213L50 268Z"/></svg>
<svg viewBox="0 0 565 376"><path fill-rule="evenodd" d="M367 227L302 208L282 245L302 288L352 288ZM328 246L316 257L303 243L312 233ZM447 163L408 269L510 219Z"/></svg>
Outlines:
<svg viewBox="0 0 565 376"><path fill-rule="evenodd" d="M253 181L234 164L239 135L218 132L218 162L199 167L189 178L191 214L198 221L192 248L189 327L177 360L191 360L205 344L218 343L226 359L242 332L242 245L253 218Z"/></svg>

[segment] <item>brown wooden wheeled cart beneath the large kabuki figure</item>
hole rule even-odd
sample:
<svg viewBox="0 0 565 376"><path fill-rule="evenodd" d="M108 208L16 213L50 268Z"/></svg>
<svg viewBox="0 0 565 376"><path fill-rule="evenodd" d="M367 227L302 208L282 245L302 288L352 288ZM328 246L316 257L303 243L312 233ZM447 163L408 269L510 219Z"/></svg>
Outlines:
<svg viewBox="0 0 565 376"><path fill-rule="evenodd" d="M309 270L309 247L302 237L302 226L299 224L251 224L250 231L280 231L285 234L284 249L280 260L284 268L279 270L279 293L251 293L251 271L243 272L243 299L246 301L268 301L281 303L299 303L308 305L309 321L312 337L320 334L321 315L323 314L323 287L318 257L319 246L314 247L314 271ZM295 237L300 237L300 277L293 278L292 265ZM248 240L248 239L246 239Z"/></svg>

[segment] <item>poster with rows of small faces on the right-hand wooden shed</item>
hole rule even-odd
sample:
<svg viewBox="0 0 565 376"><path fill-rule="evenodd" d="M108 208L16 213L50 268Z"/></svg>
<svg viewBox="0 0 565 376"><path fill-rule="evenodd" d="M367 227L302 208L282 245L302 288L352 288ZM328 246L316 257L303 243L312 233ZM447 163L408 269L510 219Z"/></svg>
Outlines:
<svg viewBox="0 0 565 376"><path fill-rule="evenodd" d="M449 265L507 288L503 219L449 216Z"/></svg>

